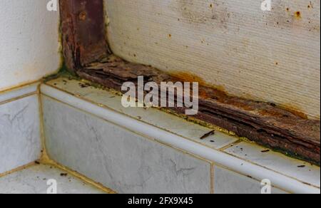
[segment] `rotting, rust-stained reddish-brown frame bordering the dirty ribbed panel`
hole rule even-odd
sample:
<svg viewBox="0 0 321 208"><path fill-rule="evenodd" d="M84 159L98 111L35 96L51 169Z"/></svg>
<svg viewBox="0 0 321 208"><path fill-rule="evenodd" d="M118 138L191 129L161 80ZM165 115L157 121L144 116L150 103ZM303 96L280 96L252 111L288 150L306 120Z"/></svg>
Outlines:
<svg viewBox="0 0 321 208"><path fill-rule="evenodd" d="M106 40L103 0L61 0L60 9L64 60L69 70L81 78L116 90L138 76L148 76L156 83L180 80L111 53ZM184 108L170 110L185 112ZM236 98L205 85L200 86L199 113L193 118L320 165L319 120L302 118L272 103Z"/></svg>

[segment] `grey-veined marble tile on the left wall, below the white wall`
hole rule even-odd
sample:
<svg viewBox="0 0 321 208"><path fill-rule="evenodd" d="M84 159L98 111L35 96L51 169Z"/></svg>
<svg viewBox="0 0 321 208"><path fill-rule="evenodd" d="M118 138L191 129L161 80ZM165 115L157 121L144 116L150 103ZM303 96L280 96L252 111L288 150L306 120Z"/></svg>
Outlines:
<svg viewBox="0 0 321 208"><path fill-rule="evenodd" d="M0 105L0 173L39 159L38 95Z"/></svg>

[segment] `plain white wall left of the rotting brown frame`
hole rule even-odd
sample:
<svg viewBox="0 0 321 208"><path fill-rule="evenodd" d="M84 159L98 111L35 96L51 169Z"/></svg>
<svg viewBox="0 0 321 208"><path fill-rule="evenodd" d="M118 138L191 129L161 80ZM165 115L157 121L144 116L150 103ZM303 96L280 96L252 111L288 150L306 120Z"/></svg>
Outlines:
<svg viewBox="0 0 321 208"><path fill-rule="evenodd" d="M0 91L59 68L59 14L48 1L0 0Z"/></svg>

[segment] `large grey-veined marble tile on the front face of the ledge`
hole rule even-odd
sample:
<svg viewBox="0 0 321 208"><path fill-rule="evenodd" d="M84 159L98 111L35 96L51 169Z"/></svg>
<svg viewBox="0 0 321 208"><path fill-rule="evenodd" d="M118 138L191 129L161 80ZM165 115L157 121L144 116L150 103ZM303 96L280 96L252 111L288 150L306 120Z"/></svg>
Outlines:
<svg viewBox="0 0 321 208"><path fill-rule="evenodd" d="M57 162L118 193L210 193L210 163L42 97Z"/></svg>

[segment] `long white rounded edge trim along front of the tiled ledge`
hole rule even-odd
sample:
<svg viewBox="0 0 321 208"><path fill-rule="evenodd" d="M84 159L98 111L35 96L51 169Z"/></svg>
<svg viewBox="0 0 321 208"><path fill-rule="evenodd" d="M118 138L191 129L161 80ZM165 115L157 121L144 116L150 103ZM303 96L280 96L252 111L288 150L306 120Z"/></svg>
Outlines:
<svg viewBox="0 0 321 208"><path fill-rule="evenodd" d="M194 155L205 158L206 160L213 161L218 165L229 167L231 170L240 172L243 175L249 175L257 180L269 179L273 186L285 189L288 192L300 194L320 194L320 189L317 187L312 187L298 180L281 175L280 173L267 170L264 167L260 167L237 157L233 157L225 152L213 150L196 142L186 140L183 137L173 135L165 130L142 123L138 120L134 120L133 118L129 118L128 116L122 115L121 113L117 113L113 110L101 108L98 105L88 103L86 100L76 98L73 95L65 93L56 88L52 88L49 85L41 85L41 93L52 98L56 98L57 100L61 100L63 103L67 103L75 108L79 108L88 113L92 113L93 115L109 120L116 125L126 127L134 132L140 132L148 137L153 137L156 140L165 142L168 145L173 145L173 147L176 147L180 150L191 152Z"/></svg>

